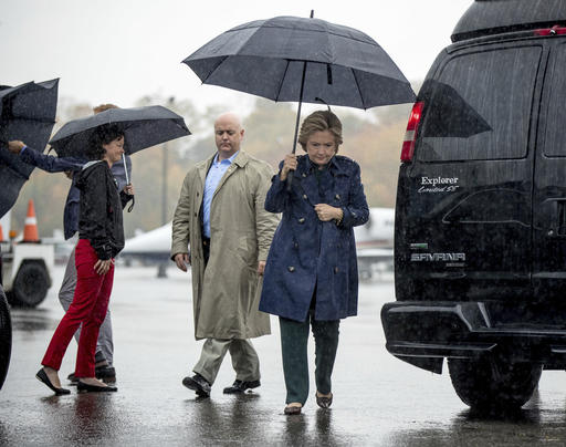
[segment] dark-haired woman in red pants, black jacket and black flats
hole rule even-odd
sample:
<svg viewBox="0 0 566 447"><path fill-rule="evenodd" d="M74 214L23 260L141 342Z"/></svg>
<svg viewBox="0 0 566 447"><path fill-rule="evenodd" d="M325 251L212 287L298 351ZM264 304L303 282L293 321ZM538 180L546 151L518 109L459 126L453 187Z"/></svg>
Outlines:
<svg viewBox="0 0 566 447"><path fill-rule="evenodd" d="M98 329L104 321L114 280L114 257L124 248L122 209L132 199L127 185L118 194L111 167L124 154L124 134L115 124L99 126L90 139L88 158L78 174L81 190L78 243L75 250L77 283L71 306L59 323L36 377L55 394L69 394L61 387L59 368L77 328L82 324L75 376L77 391L115 392L94 373Z"/></svg>

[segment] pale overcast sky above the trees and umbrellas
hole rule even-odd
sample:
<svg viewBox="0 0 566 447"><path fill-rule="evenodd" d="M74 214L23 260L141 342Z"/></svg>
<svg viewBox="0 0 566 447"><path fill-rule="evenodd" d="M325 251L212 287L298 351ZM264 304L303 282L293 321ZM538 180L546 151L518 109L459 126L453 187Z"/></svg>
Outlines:
<svg viewBox="0 0 566 447"><path fill-rule="evenodd" d="M0 84L61 77L60 97L133 106L160 93L200 107L249 95L201 85L180 62L238 24L315 17L375 39L422 80L472 0L0 0Z"/></svg>

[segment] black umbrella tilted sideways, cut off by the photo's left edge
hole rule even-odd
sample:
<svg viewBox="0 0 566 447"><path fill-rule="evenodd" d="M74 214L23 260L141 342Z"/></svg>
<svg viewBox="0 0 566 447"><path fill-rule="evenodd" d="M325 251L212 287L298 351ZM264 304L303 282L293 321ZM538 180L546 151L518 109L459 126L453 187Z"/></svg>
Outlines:
<svg viewBox="0 0 566 447"><path fill-rule="evenodd" d="M0 85L0 217L13 206L33 170L4 146L9 141L22 139L30 147L44 149L55 124L57 87L57 79L15 87Z"/></svg>

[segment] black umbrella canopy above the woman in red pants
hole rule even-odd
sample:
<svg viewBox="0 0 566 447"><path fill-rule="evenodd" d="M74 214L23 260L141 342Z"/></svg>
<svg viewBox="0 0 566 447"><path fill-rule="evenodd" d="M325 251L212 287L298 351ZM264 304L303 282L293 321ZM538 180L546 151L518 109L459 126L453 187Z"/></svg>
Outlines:
<svg viewBox="0 0 566 447"><path fill-rule="evenodd" d="M126 154L190 135L180 115L160 105L150 105L109 108L96 115L70 121L49 143L60 157L81 156L88 148L88 138L94 129L106 124L123 126Z"/></svg>

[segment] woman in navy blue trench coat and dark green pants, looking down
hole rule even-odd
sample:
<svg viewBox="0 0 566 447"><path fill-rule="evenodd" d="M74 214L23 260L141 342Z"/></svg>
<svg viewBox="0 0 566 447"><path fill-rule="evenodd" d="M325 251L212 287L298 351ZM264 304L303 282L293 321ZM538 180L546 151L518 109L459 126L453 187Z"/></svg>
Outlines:
<svg viewBox="0 0 566 447"><path fill-rule="evenodd" d="M308 395L307 340L315 339L316 403L332 404L339 320L356 315L358 272L354 227L369 210L356 162L336 155L342 123L331 111L308 115L298 135L306 155L287 155L265 198L282 212L265 267L260 310L280 316L285 414ZM292 178L291 190L286 179Z"/></svg>

